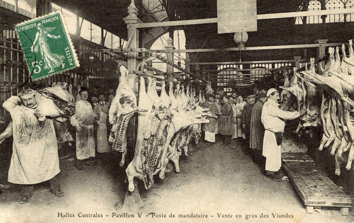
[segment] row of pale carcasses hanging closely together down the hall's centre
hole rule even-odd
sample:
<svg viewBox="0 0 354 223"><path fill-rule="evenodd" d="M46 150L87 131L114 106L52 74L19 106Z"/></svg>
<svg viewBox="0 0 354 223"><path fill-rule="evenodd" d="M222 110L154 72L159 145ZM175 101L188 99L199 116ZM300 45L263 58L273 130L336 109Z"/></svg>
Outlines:
<svg viewBox="0 0 354 223"><path fill-rule="evenodd" d="M126 169L127 179L129 182L129 190L134 190L133 178L139 178L144 182L145 188L149 189L153 181L153 175L159 173L159 177L163 179L165 177L165 169L169 160L175 164L176 172L179 171L178 159L180 153L176 143L176 139L179 138L181 133L188 132L193 129L193 136L198 136L200 131L200 124L207 123L209 120L204 119L204 116L211 116L207 113L207 109L202 109L199 105L195 105L194 99L191 98L193 90L189 93L187 88L187 94L184 92L184 86L180 89L180 84L177 84L175 92L173 92L173 84L169 83L169 95L165 90L162 90L159 97L156 93L156 83L154 78L148 78L148 92L145 91L144 78L140 79L141 87L139 89L139 107L145 110L156 111L148 115L151 120L151 125L147 126L142 123L146 120L147 116L139 115L138 117L138 135L135 145L135 154L132 162ZM164 84L162 84L164 88ZM168 103L161 99L167 99ZM144 99L144 100L140 100ZM152 101L150 105L143 104L143 101ZM153 105L154 104L154 105ZM144 119L145 118L145 119ZM198 125L198 127L193 127ZM195 130L194 130L195 129ZM146 132L149 134L144 134ZM196 133L197 132L197 133ZM147 135L148 137L141 137L141 135ZM182 145L185 147L185 145ZM188 145L187 145L188 147ZM187 152L187 148L185 148Z"/></svg>

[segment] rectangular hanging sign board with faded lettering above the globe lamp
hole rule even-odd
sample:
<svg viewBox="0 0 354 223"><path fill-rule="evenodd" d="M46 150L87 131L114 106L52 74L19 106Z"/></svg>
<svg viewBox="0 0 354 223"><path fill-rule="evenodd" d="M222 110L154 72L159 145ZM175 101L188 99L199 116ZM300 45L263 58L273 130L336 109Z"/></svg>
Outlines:
<svg viewBox="0 0 354 223"><path fill-rule="evenodd" d="M217 0L218 33L257 31L256 0Z"/></svg>

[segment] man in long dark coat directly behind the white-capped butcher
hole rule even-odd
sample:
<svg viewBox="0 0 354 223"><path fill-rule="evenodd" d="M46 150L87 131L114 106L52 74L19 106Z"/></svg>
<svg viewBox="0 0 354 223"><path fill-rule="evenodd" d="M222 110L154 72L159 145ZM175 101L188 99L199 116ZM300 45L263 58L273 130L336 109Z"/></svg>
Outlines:
<svg viewBox="0 0 354 223"><path fill-rule="evenodd" d="M264 93L258 94L258 100L252 108L251 116L251 136L250 136L250 148L262 150L264 127L261 121L262 107L264 102L267 101L267 95Z"/></svg>

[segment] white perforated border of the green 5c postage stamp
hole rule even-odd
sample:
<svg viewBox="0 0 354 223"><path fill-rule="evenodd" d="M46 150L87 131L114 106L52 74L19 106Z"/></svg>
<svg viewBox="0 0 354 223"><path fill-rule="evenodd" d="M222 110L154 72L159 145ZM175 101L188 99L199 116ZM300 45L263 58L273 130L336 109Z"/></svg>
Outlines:
<svg viewBox="0 0 354 223"><path fill-rule="evenodd" d="M61 19L62 19L62 23L63 23L63 27L64 27L64 32L65 32L65 37L67 38L67 40L68 40L68 42L69 42L70 49L71 49L72 52L73 52L73 57L74 57L75 64L76 64L76 67L75 67L75 68L78 68L78 67L80 67L78 54L76 53L75 47L74 47L73 42L72 42L72 40L71 40L71 38L70 38L69 31L68 31L68 27L67 27L67 24L66 24L66 22L65 22L65 18L64 18L63 14L62 14L60 11L58 11L58 12L51 12L51 13L45 14L44 16L39 16L39 17L36 17L36 18L33 18L33 19L25 20L24 22L21 22L21 23L18 23L18 24L15 25L15 27L16 27L16 29L15 29L15 30L16 30L16 33L17 33L17 27L18 27L18 26L27 24L27 23L29 23L29 22L33 22L33 21L35 21L35 20L39 20L39 19L45 18L45 17L47 17L47 16L51 16L51 15L54 15L54 14L59 14L60 17L61 17ZM18 33L17 33L17 35L18 35ZM21 48L22 48L21 39L18 38L18 41L20 42L20 45L21 45ZM23 50L23 49L22 49L22 50ZM26 59L26 63L27 63L27 59ZM28 71L30 72L30 67L29 67L28 63L27 63L27 68L28 68ZM46 75L46 76L44 76L44 77L38 78L38 79L36 79L36 80L34 80L34 81L41 80L41 79L46 78L46 77L51 76L51 75L62 74L62 73L64 73L65 71L72 70L72 69L75 69L75 68L69 68L69 69L66 69L66 70L59 71L59 72L54 72L54 73L52 73L52 74L48 74L48 75ZM32 74L30 74L30 75L31 75L31 78L32 78Z"/></svg>

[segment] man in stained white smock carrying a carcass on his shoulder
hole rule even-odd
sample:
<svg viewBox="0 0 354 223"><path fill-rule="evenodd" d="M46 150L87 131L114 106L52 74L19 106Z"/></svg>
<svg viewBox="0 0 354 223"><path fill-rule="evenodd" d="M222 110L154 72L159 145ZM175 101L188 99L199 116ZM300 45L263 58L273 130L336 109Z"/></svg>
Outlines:
<svg viewBox="0 0 354 223"><path fill-rule="evenodd" d="M55 196L63 196L58 178L58 145L53 120L46 118L41 122L35 116L36 91L23 90L2 106L12 118L12 157L7 181L22 185L18 203L27 203L32 197L34 184L47 180L50 191Z"/></svg>

